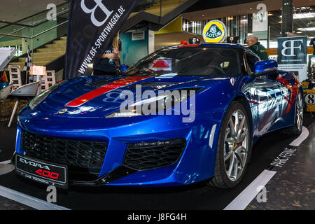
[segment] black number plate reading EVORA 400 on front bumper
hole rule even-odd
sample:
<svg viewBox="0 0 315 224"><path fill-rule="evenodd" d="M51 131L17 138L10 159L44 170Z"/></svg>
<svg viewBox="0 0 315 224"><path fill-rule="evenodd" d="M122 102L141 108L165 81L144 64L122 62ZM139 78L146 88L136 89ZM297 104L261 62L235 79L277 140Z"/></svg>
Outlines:
<svg viewBox="0 0 315 224"><path fill-rule="evenodd" d="M52 162L15 155L15 172L32 181L44 183L48 186L68 188L68 167Z"/></svg>

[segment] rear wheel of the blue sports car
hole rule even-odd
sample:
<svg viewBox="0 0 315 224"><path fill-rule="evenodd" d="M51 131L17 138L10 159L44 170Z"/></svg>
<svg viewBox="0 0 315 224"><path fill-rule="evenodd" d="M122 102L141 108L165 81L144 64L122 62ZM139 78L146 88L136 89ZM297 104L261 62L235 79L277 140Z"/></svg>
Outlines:
<svg viewBox="0 0 315 224"><path fill-rule="evenodd" d="M283 130L283 134L300 135L304 118L303 93L299 90L295 100L295 123L292 127Z"/></svg>

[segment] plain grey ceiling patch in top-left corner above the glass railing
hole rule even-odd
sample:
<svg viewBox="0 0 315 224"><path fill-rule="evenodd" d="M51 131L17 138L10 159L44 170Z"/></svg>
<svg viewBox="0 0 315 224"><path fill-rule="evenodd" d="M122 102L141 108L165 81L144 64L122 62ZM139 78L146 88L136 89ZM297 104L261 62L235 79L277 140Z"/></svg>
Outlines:
<svg viewBox="0 0 315 224"><path fill-rule="evenodd" d="M0 0L0 20L17 22L46 10L49 3L59 5L66 0Z"/></svg>

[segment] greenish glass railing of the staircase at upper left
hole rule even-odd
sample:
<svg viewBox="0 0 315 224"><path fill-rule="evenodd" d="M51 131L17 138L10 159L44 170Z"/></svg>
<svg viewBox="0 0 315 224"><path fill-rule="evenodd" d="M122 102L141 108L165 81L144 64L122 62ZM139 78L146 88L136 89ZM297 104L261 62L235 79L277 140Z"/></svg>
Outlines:
<svg viewBox="0 0 315 224"><path fill-rule="evenodd" d="M69 3L57 6L55 18L48 18L48 10L18 22L0 22L0 47L15 47L16 57L45 43L66 35Z"/></svg>

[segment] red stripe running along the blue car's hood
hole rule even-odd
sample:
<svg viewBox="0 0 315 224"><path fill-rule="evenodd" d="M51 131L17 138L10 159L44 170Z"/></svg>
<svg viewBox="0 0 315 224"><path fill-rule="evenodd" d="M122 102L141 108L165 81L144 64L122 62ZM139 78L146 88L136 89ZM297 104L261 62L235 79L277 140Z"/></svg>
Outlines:
<svg viewBox="0 0 315 224"><path fill-rule="evenodd" d="M109 92L111 90L116 90L119 87L123 87L125 85L130 85L132 83L137 83L139 80L144 80L148 78L148 76L136 76L136 77L127 77L127 78L122 78L120 80L116 80L113 83L109 83L106 85L103 85L96 90L92 90L91 92L87 92L83 96L80 96L73 101L69 102L66 104L66 106L81 106L82 104L90 101L91 99L94 99L95 97L99 97L100 95Z"/></svg>

